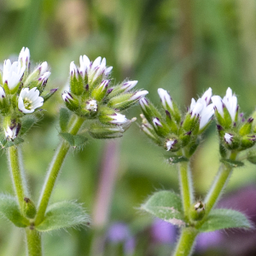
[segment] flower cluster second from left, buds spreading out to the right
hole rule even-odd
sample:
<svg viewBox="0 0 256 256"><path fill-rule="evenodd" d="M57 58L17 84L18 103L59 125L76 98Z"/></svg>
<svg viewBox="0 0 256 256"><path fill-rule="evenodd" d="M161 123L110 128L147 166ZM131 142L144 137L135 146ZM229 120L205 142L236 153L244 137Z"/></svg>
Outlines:
<svg viewBox="0 0 256 256"><path fill-rule="evenodd" d="M62 93L63 101L80 117L96 119L90 126L91 137L121 137L134 119L127 119L120 111L130 108L148 91L133 90L137 81L113 85L109 79L112 67L106 66L105 58L90 61L83 55L79 62L79 67L70 63L70 86Z"/></svg>

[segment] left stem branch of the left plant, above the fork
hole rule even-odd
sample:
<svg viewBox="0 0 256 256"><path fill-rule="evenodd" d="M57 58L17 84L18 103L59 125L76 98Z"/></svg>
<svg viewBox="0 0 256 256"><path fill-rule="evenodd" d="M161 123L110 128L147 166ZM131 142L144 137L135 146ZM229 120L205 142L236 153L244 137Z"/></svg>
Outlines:
<svg viewBox="0 0 256 256"><path fill-rule="evenodd" d="M25 177L22 173L23 169L21 166L19 154L20 153L17 146L12 146L8 148L9 169L15 187L15 194L19 202L20 211L22 212L24 197L27 194L27 189Z"/></svg>

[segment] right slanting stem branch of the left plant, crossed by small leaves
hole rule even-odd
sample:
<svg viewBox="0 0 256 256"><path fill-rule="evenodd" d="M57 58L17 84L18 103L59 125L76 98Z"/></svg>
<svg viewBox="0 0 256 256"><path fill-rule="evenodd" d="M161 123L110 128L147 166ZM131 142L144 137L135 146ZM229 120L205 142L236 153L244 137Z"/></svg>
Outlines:
<svg viewBox="0 0 256 256"><path fill-rule="evenodd" d="M71 126L68 132L71 133L72 135L76 135L80 127L83 125L83 123L84 119L77 117L77 119L73 122L73 125ZM49 171L45 178L44 187L42 189L41 196L39 199L38 213L35 218L36 225L40 224L44 219L44 213L49 204L50 195L54 189L55 181L61 170L61 166L65 160L69 148L70 145L66 141L63 141L60 144L59 148L57 148L57 150L55 151L55 155L49 166Z"/></svg>

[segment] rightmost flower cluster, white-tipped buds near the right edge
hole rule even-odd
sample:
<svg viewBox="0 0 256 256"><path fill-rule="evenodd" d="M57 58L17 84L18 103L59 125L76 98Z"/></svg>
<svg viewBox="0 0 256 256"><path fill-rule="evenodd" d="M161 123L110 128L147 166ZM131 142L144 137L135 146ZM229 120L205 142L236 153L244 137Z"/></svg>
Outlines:
<svg viewBox="0 0 256 256"><path fill-rule="evenodd" d="M223 157L226 149L244 150L253 147L255 144L255 134L253 131L253 118L244 119L243 113L239 114L237 97L228 88L226 95L222 99L220 96L212 96L215 116L218 122L218 134Z"/></svg>

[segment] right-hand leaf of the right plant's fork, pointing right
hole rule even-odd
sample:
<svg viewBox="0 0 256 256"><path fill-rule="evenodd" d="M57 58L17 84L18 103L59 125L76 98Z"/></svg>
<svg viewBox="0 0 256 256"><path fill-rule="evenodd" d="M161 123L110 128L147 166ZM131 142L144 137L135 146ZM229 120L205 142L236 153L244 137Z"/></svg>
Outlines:
<svg viewBox="0 0 256 256"><path fill-rule="evenodd" d="M201 232L231 228L253 228L247 217L241 212L230 209L215 209L207 216L206 222L199 228Z"/></svg>

